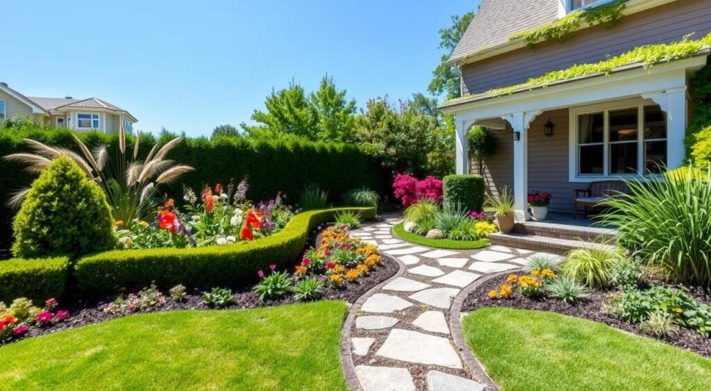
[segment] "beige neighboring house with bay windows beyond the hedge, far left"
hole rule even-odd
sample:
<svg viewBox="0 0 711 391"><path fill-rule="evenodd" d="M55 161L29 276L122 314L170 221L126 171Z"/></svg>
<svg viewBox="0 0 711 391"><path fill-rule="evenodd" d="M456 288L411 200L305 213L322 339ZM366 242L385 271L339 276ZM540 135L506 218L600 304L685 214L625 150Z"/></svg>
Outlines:
<svg viewBox="0 0 711 391"><path fill-rule="evenodd" d="M0 119L6 117L33 117L50 127L104 133L118 132L121 127L132 132L138 122L126 110L95 97L26 97L0 82Z"/></svg>

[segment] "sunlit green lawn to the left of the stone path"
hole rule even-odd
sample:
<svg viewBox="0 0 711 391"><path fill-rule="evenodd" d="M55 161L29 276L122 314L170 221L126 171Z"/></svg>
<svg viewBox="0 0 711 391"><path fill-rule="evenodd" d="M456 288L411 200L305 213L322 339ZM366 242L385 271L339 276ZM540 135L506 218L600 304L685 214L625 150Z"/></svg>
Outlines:
<svg viewBox="0 0 711 391"><path fill-rule="evenodd" d="M4 390L347 390L342 301L140 314L0 348Z"/></svg>

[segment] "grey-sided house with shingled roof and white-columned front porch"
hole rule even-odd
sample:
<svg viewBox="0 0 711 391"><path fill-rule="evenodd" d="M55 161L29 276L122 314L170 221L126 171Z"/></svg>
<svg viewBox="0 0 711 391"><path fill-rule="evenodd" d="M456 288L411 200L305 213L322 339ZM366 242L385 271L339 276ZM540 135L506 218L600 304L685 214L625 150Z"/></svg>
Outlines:
<svg viewBox="0 0 711 391"><path fill-rule="evenodd" d="M708 48L648 69L631 64L609 75L491 93L552 70L596 63L641 45L681 41L689 33L700 39L711 31L709 0L630 0L616 26L582 23L566 41L538 43L533 50L510 38L606 3L483 0L449 59L461 74L463 95L441 107L456 116L456 171L469 172L469 129L496 129L497 151L486 161L486 179L491 192L513 188L519 220L528 219L530 190L552 193L550 210L570 213L574 189L589 182L653 175L658 163L683 164L689 80L707 64ZM545 134L546 125L553 126L552 135Z"/></svg>

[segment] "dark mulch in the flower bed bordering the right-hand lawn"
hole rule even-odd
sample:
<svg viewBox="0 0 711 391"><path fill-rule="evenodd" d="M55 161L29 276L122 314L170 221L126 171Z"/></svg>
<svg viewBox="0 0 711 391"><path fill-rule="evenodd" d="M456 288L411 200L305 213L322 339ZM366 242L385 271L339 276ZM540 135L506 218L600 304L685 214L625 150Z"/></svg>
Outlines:
<svg viewBox="0 0 711 391"><path fill-rule="evenodd" d="M491 300L488 298L488 291L497 289L503 282L506 281L506 275L494 277L481 286L474 289L464 301L461 311L474 311L476 309L486 307L508 307L515 309L531 309L538 311L553 311L559 314L576 316L578 318L586 318L592 321L606 323L614 328L627 331L629 333L655 338L673 346L678 346L694 353L711 358L711 338L704 338L700 333L681 328L676 336L659 338L651 333L642 330L638 325L629 323L612 314L605 314L602 311L602 303L606 294L609 291L592 290L589 299L577 304L566 304L563 301L556 299L546 299L545 297L539 300L528 299L520 294L515 294L512 299ZM708 296L695 292L693 294L697 300L707 303Z"/></svg>

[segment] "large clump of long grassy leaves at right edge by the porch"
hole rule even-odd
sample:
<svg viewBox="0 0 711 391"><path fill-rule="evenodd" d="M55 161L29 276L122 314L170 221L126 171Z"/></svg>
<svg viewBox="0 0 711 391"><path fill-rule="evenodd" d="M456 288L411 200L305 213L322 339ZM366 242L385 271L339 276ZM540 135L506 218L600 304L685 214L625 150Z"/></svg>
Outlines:
<svg viewBox="0 0 711 391"><path fill-rule="evenodd" d="M614 213L603 216L616 238L645 263L656 264L670 279L711 286L711 168L668 176L665 180L628 181L629 196L606 200Z"/></svg>

